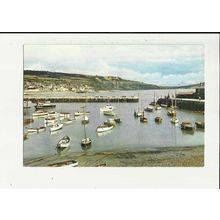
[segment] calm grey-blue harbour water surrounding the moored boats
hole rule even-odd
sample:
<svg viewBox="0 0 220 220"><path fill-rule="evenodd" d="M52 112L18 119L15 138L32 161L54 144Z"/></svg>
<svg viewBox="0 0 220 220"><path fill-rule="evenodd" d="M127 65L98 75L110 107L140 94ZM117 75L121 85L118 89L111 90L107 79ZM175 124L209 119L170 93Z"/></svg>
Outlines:
<svg viewBox="0 0 220 220"><path fill-rule="evenodd" d="M170 122L170 117L167 116L167 109L162 108L154 112L145 112L148 118L148 123L140 123L139 118L134 118L134 110L145 108L155 98L174 94L174 91L168 90L144 90L144 91L114 91L103 92L92 95L139 95L139 103L111 103L116 110L116 114L121 118L121 124L108 132L102 134L96 133L96 127L103 124L105 120L111 118L100 112L100 108L108 103L86 103L86 111L88 114L89 124L86 125L87 136L92 139L91 148L88 151L142 151L148 149L156 149L160 147L183 147L204 145L204 131L196 130L193 133L182 131L180 123L182 121L204 121L204 115L187 110L177 109L177 118L179 124L174 125ZM49 95L49 94L48 94ZM66 95L73 95L67 93ZM77 94L79 95L79 94ZM85 95L85 94L81 94ZM89 95L89 94L87 94ZM57 112L70 112L73 114L81 110L81 106L85 103L56 103ZM32 117L35 108L32 106L29 109L24 109L24 118ZM156 116L163 118L162 123L157 124L154 121ZM64 125L63 129L51 133L47 127L45 132L29 135L24 141L24 159L38 158L41 156L51 156L58 154L56 149L57 142L64 136L68 135L71 138L70 147L67 152L83 152L80 142L84 138L83 126L81 124L82 117L78 117L73 123ZM44 118L36 118L30 125L24 126L24 132L28 127L44 126Z"/></svg>

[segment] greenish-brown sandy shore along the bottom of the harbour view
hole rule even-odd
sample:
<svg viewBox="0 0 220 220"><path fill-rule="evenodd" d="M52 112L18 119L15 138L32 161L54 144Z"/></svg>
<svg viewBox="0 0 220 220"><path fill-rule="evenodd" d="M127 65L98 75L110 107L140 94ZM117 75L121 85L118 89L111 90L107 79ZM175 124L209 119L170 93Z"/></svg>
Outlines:
<svg viewBox="0 0 220 220"><path fill-rule="evenodd" d="M202 167L204 146L163 147L150 151L106 151L63 153L49 157L24 160L24 166L47 167L51 164L76 160L78 167Z"/></svg>

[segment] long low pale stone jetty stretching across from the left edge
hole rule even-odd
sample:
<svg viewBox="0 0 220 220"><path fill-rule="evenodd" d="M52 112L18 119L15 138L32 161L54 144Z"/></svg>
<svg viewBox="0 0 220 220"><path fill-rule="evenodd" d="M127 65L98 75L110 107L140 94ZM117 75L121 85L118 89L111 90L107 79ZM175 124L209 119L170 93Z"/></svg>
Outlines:
<svg viewBox="0 0 220 220"><path fill-rule="evenodd" d="M33 103L50 101L51 103L64 102L138 102L137 96L29 96L24 95L24 101L31 101Z"/></svg>

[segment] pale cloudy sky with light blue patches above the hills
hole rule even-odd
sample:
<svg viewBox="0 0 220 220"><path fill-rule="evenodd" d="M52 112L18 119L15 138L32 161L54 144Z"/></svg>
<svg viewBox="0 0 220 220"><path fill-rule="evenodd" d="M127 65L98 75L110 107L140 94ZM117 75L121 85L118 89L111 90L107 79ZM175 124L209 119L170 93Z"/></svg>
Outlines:
<svg viewBox="0 0 220 220"><path fill-rule="evenodd" d="M161 86L204 82L203 45L25 45L24 69L119 76Z"/></svg>

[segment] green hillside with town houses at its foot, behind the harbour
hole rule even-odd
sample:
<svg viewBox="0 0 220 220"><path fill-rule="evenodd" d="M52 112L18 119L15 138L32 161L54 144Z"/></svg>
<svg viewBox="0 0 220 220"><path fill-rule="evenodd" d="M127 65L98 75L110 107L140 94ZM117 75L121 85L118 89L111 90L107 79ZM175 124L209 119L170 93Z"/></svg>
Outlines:
<svg viewBox="0 0 220 220"><path fill-rule="evenodd" d="M66 90L89 89L101 90L147 90L162 89L157 85L122 79L115 76L98 76L84 74L69 74L61 72L24 70L24 87L35 87L42 90L58 91L60 87Z"/></svg>

